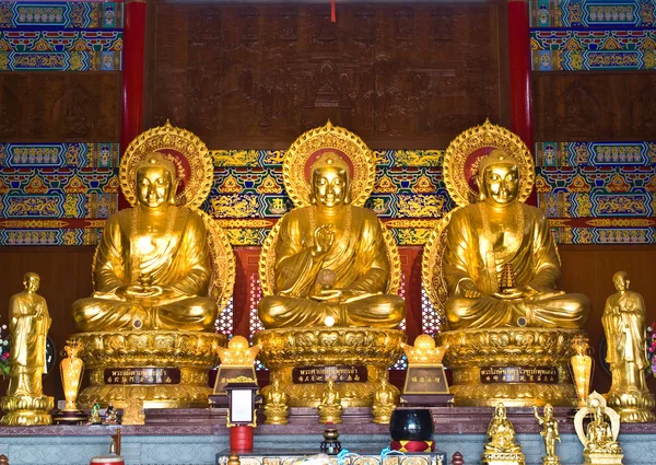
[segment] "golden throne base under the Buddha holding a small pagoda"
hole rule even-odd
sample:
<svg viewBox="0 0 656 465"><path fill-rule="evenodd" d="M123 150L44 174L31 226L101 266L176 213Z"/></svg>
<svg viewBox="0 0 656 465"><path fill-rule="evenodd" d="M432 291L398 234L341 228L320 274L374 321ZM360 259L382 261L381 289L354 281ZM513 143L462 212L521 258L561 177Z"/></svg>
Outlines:
<svg viewBox="0 0 656 465"><path fill-rule="evenodd" d="M445 365L453 370L449 386L460 406L529 407L551 404L575 407L576 390L570 374L572 340L578 329L493 328L445 332L440 345L448 345ZM481 368L550 367L558 370L558 383L489 382L481 380Z"/></svg>

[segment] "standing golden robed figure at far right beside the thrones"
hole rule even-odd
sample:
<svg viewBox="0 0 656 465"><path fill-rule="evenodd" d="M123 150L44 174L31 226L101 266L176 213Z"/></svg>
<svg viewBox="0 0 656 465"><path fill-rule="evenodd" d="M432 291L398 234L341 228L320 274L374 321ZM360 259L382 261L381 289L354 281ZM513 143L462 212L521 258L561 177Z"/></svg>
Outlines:
<svg viewBox="0 0 656 465"><path fill-rule="evenodd" d="M606 301L601 323L608 352L606 361L612 373L612 391L640 391L648 393L645 380L647 334L643 298L629 290L629 275L618 271L612 277L617 293Z"/></svg>

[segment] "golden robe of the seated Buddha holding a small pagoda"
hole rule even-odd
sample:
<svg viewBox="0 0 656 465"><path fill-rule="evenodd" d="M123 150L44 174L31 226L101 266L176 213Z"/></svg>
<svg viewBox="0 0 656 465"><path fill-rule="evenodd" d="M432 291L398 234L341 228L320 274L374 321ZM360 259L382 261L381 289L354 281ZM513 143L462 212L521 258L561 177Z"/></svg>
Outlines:
<svg viewBox="0 0 656 465"><path fill-rule="evenodd" d="M494 249L485 239L478 204L454 212L443 258L450 329L518 326L520 317L527 326L547 328L581 328L587 321L590 304L585 295L555 290L560 260L544 214L538 208L520 206L524 232L514 253ZM516 287L535 287L537 292L513 300L492 295L499 290L499 276L506 263L513 266ZM481 297L466 299L460 290L465 281L473 281Z"/></svg>

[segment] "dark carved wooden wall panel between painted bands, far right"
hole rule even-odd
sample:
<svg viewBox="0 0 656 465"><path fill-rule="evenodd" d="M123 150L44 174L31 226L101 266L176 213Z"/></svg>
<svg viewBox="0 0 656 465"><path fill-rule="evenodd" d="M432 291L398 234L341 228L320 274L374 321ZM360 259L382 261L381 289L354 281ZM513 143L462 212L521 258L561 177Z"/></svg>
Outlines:
<svg viewBox="0 0 656 465"><path fill-rule="evenodd" d="M536 73L536 140L653 140L655 89L655 73Z"/></svg>

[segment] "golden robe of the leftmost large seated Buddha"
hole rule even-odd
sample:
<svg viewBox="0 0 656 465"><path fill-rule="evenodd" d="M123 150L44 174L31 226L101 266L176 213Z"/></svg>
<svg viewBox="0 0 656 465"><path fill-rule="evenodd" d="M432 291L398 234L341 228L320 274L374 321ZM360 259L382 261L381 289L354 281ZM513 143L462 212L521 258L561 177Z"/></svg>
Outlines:
<svg viewBox="0 0 656 465"><path fill-rule="evenodd" d="M143 329L213 329L218 309L207 297L211 269L202 219L181 207L168 207L166 214L175 214L171 236L167 231L132 235L132 209L107 220L94 260L96 292L73 303L78 330L131 329L134 318ZM143 242L152 249L138 252ZM142 275L171 292L136 299L116 294L121 286L137 284Z"/></svg>

